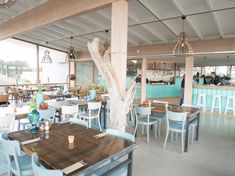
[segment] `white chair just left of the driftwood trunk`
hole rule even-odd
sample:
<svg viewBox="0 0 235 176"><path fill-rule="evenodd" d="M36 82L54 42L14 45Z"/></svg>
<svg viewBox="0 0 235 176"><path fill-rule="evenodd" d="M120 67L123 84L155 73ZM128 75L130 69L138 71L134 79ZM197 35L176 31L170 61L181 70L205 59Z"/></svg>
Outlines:
<svg viewBox="0 0 235 176"><path fill-rule="evenodd" d="M88 109L88 112L85 113L85 114L81 114L80 118L88 120L89 128L91 128L91 120L92 119L97 119L98 125L99 125L99 129L100 129L100 131L102 131L101 125L100 125L101 102L89 102L87 109Z"/></svg>

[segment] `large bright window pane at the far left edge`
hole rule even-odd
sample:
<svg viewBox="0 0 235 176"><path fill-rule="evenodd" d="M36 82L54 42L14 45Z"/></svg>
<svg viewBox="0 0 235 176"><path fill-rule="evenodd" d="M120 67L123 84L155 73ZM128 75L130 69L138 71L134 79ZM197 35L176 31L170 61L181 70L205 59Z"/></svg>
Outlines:
<svg viewBox="0 0 235 176"><path fill-rule="evenodd" d="M36 83L36 46L15 39L0 41L0 84Z"/></svg>

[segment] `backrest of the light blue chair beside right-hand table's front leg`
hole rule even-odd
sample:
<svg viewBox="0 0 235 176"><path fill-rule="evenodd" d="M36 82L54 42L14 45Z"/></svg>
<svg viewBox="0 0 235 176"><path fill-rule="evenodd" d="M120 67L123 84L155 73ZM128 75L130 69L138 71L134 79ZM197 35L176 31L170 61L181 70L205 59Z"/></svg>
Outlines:
<svg viewBox="0 0 235 176"><path fill-rule="evenodd" d="M187 112L172 112L166 110L166 122L169 126L169 121L182 122L182 127L184 127L185 121L187 118Z"/></svg>

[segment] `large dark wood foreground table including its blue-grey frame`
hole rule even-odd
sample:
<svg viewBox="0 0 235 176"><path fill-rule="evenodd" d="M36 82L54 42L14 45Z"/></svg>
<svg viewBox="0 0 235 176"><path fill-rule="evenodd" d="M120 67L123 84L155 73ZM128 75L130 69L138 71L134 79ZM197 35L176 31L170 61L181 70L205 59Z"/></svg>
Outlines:
<svg viewBox="0 0 235 176"><path fill-rule="evenodd" d="M74 135L74 143L68 142L69 135ZM131 141L70 123L52 124L49 133L31 133L27 129L11 132L9 139L18 140L22 150L28 155L36 152L40 162L47 168L65 171L67 167L76 163L81 165L74 171L70 170L71 173L67 175L90 176L101 170L104 171L104 175L109 175L127 166L130 176L133 151L137 147ZM31 139L38 140L22 143Z"/></svg>

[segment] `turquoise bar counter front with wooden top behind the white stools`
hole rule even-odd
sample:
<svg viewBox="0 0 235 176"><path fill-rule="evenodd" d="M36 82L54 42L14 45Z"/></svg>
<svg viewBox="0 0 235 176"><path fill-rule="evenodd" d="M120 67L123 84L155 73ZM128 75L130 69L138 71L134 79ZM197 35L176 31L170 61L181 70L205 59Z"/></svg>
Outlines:
<svg viewBox="0 0 235 176"><path fill-rule="evenodd" d="M228 96L235 96L235 86L206 86L206 85L195 85L193 88L193 99L192 104L197 105L198 95L206 95L206 109L211 110L213 95L221 95L221 110L225 111L226 101ZM218 99L217 99L218 100ZM218 101L216 101L216 106ZM230 106L232 102L230 101ZM218 111L218 109L215 109Z"/></svg>

